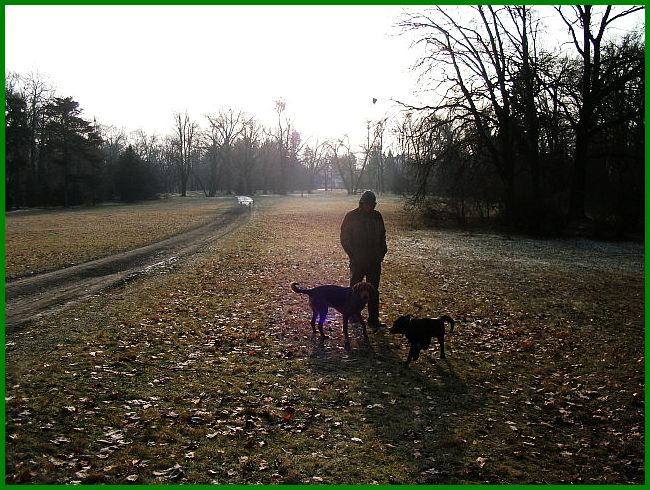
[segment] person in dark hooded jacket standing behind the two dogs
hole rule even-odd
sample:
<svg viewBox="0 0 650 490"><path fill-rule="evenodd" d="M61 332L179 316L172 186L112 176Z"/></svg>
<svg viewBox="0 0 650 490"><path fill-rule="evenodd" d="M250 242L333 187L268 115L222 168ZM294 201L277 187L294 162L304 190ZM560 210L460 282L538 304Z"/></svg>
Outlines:
<svg viewBox="0 0 650 490"><path fill-rule="evenodd" d="M374 330L383 326L379 322L379 280L388 251L384 218L376 205L374 192L364 192L359 207L348 212L341 223L341 245L350 258L350 286L365 278L377 291L368 301L368 325Z"/></svg>

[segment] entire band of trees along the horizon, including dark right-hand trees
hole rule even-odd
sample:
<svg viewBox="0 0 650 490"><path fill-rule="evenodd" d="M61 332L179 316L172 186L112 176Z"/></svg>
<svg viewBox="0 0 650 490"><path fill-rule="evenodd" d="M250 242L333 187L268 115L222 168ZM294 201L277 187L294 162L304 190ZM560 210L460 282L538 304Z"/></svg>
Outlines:
<svg viewBox="0 0 650 490"><path fill-rule="evenodd" d="M538 11L434 7L400 26L424 55L423 107L367 123L367 140L301 141L227 108L201 125L170 117L170 134L126 134L82 117L38 76L8 74L6 208L372 188L407 195L434 218L496 218L531 232L644 227L645 44L614 37L642 7L547 7L568 37L543 48ZM548 40L546 40L546 44ZM564 46L564 49L562 47ZM571 49L566 49L569 46ZM389 144L390 143L390 144Z"/></svg>

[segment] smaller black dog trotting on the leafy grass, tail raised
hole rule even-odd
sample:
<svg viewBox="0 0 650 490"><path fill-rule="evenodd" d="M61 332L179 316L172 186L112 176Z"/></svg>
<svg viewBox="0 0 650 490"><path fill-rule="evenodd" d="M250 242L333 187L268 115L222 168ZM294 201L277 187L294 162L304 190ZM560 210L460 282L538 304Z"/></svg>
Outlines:
<svg viewBox="0 0 650 490"><path fill-rule="evenodd" d="M406 365L411 361L416 361L420 357L422 349L428 349L431 346L431 338L437 337L440 343L440 358L445 359L445 322L449 322L451 328L449 333L454 330L454 320L450 316L442 315L438 318L413 318L411 315L399 317L393 323L390 333L404 334L411 343Z"/></svg>

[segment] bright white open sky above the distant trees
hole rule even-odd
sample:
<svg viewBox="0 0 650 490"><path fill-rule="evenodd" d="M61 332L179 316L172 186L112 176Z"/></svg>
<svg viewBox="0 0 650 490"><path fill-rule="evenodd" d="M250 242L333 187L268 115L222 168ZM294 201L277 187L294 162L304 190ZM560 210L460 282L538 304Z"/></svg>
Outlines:
<svg viewBox="0 0 650 490"><path fill-rule="evenodd" d="M301 133L348 134L411 100L398 6L5 6L5 69L38 72L87 119L173 131L173 113L232 107L265 126L275 101ZM372 104L372 98L380 101ZM384 99L382 102L381 99Z"/></svg>

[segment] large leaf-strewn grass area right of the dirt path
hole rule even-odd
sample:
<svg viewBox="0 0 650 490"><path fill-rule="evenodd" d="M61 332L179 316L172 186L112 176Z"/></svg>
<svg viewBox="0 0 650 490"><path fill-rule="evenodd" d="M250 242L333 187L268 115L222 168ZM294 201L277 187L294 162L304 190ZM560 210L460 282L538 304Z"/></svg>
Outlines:
<svg viewBox="0 0 650 490"><path fill-rule="evenodd" d="M314 338L343 195L259 198L167 272L6 338L7 483L644 482L643 246L428 230L397 198L382 316L448 313L447 360ZM110 234L110 230L106 230Z"/></svg>

